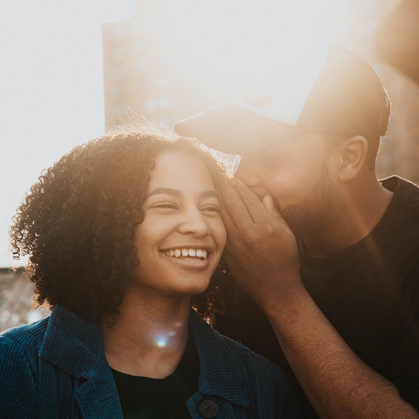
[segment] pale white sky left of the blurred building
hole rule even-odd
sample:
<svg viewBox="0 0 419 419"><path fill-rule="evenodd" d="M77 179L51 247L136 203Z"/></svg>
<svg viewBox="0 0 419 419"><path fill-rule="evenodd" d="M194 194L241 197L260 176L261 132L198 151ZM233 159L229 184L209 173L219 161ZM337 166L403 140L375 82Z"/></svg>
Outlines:
<svg viewBox="0 0 419 419"><path fill-rule="evenodd" d="M0 1L0 267L16 207L42 169L104 131L101 23L132 2Z"/></svg>

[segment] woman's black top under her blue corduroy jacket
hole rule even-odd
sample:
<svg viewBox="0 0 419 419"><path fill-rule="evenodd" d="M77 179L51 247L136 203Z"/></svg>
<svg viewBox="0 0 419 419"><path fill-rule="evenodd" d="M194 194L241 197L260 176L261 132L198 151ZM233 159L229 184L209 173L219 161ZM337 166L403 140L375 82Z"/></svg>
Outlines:
<svg viewBox="0 0 419 419"><path fill-rule="evenodd" d="M149 378L112 370L124 419L190 418L186 400L198 389L199 358L189 334L184 355L166 378Z"/></svg>

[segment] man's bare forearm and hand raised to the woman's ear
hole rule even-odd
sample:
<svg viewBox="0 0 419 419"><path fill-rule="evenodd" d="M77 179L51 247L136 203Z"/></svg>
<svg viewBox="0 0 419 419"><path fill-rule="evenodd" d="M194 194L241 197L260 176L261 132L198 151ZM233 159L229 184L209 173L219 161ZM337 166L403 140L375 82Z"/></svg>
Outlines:
<svg viewBox="0 0 419 419"><path fill-rule="evenodd" d="M271 322L318 416L419 419L396 386L348 347L305 290L295 237L272 198L262 204L237 180L224 185L221 200L229 268Z"/></svg>

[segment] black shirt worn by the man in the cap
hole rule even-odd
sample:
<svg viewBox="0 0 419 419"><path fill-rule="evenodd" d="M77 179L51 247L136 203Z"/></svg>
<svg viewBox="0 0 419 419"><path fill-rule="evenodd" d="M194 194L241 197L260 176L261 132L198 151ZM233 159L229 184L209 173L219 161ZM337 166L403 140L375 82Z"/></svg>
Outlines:
<svg viewBox="0 0 419 419"><path fill-rule="evenodd" d="M300 273L349 347L419 410L419 189L395 176L382 184L394 194L372 232L323 258L308 257L300 246ZM305 417L317 418L269 322L249 297L239 300L217 315L215 327L279 365Z"/></svg>

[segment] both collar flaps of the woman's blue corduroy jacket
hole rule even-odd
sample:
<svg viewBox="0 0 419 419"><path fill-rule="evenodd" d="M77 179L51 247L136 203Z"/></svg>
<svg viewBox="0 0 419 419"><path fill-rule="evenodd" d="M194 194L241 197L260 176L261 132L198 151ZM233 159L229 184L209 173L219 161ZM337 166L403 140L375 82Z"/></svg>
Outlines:
<svg viewBox="0 0 419 419"><path fill-rule="evenodd" d="M230 340L218 334L192 309L189 332L194 337L199 356L200 393L250 406L248 379L242 362L232 345L228 344ZM93 382L98 374L109 370L106 376L112 378L105 357L100 323L87 323L61 305L56 305L52 310L39 355L75 377L93 378Z"/></svg>

